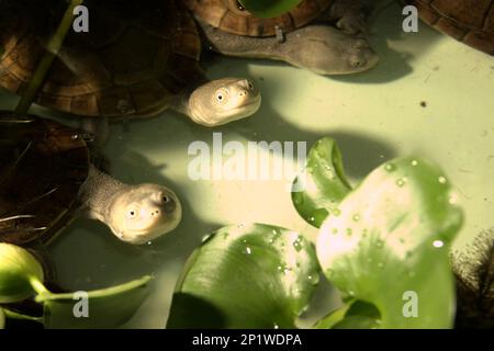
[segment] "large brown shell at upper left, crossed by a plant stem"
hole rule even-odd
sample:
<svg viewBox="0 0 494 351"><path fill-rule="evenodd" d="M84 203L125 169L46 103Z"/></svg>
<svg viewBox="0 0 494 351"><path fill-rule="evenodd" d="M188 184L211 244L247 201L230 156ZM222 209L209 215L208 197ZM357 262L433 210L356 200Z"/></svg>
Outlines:
<svg viewBox="0 0 494 351"><path fill-rule="evenodd" d="M89 32L69 30L37 103L86 116L147 116L167 109L202 77L200 37L179 0L87 0L85 5ZM22 94L58 26L65 10L59 8L31 5L21 18L8 15L14 23L0 21L9 24L0 24L5 47L0 86Z"/></svg>

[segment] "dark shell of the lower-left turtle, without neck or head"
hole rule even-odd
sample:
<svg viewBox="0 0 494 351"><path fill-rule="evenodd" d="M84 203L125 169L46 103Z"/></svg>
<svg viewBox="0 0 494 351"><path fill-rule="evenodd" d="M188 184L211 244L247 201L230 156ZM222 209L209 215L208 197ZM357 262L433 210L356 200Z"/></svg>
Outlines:
<svg viewBox="0 0 494 351"><path fill-rule="evenodd" d="M78 131L0 111L0 242L47 240L77 207L89 171Z"/></svg>

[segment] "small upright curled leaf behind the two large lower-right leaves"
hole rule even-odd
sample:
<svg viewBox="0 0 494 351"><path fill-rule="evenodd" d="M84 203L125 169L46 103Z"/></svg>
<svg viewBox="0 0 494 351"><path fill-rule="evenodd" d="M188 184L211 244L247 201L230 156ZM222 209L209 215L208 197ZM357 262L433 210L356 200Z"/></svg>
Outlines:
<svg viewBox="0 0 494 351"><path fill-rule="evenodd" d="M350 190L338 145L325 137L308 151L306 166L293 182L292 202L302 218L319 228L328 214L339 213Z"/></svg>

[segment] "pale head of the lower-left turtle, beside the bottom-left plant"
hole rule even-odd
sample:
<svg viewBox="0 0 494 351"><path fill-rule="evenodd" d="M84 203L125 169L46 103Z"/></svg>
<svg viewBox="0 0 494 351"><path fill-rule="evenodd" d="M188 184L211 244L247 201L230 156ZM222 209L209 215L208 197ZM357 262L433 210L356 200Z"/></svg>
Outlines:
<svg viewBox="0 0 494 351"><path fill-rule="evenodd" d="M173 230L182 217L177 195L157 184L123 189L108 207L105 223L121 240L142 245Z"/></svg>

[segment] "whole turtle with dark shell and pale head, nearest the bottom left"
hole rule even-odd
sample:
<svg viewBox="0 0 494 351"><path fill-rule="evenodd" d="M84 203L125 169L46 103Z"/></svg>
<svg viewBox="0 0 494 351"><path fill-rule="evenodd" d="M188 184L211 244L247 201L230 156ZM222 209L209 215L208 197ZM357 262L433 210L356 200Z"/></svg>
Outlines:
<svg viewBox="0 0 494 351"><path fill-rule="evenodd" d="M90 162L81 132L0 111L0 242L47 241L78 214L144 244L177 227L181 205L157 184L124 184Z"/></svg>

